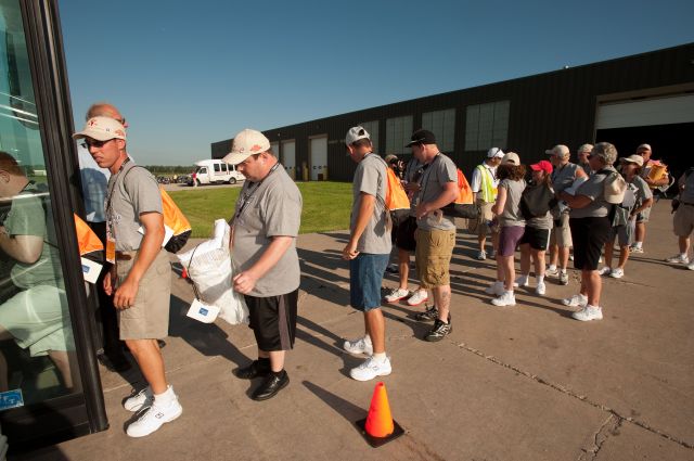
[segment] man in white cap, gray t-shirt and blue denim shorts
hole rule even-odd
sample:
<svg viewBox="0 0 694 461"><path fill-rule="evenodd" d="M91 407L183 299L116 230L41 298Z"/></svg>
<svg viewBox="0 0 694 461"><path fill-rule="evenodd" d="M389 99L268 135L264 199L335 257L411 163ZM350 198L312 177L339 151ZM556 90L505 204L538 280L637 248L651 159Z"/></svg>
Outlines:
<svg viewBox="0 0 694 461"><path fill-rule="evenodd" d="M369 132L352 127L345 137L347 155L357 164L352 180L352 208L349 241L343 259L349 261L349 304L364 318L364 335L345 341L350 354L369 356L359 367L349 370L357 381L369 381L390 374L390 358L386 355L386 328L381 311L383 272L390 256L389 215L385 207L386 163L373 153Z"/></svg>

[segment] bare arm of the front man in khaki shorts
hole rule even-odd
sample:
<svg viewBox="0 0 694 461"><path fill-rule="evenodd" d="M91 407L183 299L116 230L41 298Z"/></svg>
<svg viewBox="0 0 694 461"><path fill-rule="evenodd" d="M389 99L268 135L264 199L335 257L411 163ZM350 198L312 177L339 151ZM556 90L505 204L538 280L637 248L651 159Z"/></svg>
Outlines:
<svg viewBox="0 0 694 461"><path fill-rule="evenodd" d="M140 280L162 251L165 235L164 216L156 212L142 213L140 214L140 222L144 228L144 238L128 277L116 290L113 304L117 309L127 309L134 303Z"/></svg>

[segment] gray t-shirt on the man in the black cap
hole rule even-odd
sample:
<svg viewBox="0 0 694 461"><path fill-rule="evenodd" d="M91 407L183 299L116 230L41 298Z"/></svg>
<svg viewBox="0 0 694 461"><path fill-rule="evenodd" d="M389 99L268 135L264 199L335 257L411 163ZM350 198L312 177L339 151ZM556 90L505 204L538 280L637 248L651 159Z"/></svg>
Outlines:
<svg viewBox="0 0 694 461"><path fill-rule="evenodd" d="M412 210L420 203L433 202L438 199L447 182L453 182L458 185L458 170L453 161L439 153L422 174L422 189L412 200ZM450 218L442 216L439 220L433 213L426 218L417 219L416 226L425 231L455 230L455 223Z"/></svg>

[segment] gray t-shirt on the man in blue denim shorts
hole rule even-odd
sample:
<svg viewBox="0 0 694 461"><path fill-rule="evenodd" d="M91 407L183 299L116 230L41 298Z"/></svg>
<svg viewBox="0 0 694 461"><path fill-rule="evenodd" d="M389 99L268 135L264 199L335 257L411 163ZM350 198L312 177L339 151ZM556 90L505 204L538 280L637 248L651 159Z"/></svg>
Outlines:
<svg viewBox="0 0 694 461"><path fill-rule="evenodd" d="M362 193L372 195L376 199L373 207L373 214L367 228L359 238L357 249L361 253L374 255L387 255L391 249L390 231L386 229L386 168L387 165L383 158L376 154L367 154L357 165L355 179L351 184L352 206L351 216L349 218L349 229L354 231L357 225L357 215L361 206Z"/></svg>

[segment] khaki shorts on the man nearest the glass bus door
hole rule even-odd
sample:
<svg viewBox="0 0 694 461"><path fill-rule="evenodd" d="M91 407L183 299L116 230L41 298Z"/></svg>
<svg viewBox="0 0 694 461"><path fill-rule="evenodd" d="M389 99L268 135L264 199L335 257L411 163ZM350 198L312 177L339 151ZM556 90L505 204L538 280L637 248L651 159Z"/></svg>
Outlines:
<svg viewBox="0 0 694 461"><path fill-rule="evenodd" d="M118 283L125 281L133 262L134 258L116 261ZM166 249L162 249L140 281L134 305L118 310L120 340L159 340L168 336L170 297L171 264Z"/></svg>

